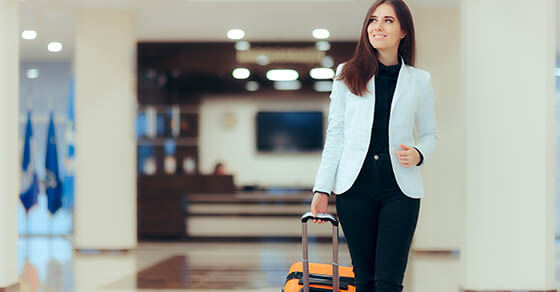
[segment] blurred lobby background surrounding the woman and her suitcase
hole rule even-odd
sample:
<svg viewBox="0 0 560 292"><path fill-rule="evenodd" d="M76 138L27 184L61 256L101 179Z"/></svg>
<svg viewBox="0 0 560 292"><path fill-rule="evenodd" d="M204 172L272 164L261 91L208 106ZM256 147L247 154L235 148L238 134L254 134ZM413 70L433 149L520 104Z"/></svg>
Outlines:
<svg viewBox="0 0 560 292"><path fill-rule="evenodd" d="M0 291L280 291L373 2L0 0ZM405 2L440 140L404 291L557 291L560 5Z"/></svg>

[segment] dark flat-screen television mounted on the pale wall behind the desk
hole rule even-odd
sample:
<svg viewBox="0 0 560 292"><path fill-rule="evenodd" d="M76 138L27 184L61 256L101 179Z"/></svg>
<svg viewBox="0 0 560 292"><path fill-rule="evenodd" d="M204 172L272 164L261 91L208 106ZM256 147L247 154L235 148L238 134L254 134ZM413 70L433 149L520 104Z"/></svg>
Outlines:
<svg viewBox="0 0 560 292"><path fill-rule="evenodd" d="M259 152L310 152L323 148L321 111L260 111L256 123Z"/></svg>

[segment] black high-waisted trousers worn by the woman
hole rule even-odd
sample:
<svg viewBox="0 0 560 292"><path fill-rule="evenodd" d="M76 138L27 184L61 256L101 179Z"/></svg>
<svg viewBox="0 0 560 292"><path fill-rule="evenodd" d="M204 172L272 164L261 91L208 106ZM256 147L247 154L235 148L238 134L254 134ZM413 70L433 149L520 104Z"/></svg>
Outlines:
<svg viewBox="0 0 560 292"><path fill-rule="evenodd" d="M389 159L389 152L368 152L352 187L336 196L336 210L354 268L356 292L403 289L420 199L402 193Z"/></svg>

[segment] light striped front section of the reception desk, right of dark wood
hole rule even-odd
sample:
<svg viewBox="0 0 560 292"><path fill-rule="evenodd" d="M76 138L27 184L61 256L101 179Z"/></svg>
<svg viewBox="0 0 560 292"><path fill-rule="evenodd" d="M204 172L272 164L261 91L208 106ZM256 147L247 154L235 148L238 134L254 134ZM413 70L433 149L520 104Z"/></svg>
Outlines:
<svg viewBox="0 0 560 292"><path fill-rule="evenodd" d="M310 211L311 199L310 191L189 194L185 196L186 237L192 240L299 241L300 217ZM334 197L329 201L328 212L336 215ZM309 221L308 234L319 241L332 239L329 224Z"/></svg>

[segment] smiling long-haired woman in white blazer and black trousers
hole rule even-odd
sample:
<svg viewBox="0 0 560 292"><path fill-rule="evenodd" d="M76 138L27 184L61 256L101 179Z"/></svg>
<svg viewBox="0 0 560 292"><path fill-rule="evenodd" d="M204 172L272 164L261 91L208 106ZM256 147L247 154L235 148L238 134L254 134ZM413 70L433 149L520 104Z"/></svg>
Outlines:
<svg viewBox="0 0 560 292"><path fill-rule="evenodd" d="M333 82L311 212L326 213L337 195L357 292L402 291L424 196L418 168L438 140L431 77L413 67L414 50L407 5L378 0Z"/></svg>

